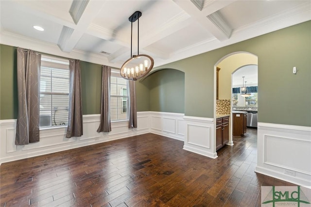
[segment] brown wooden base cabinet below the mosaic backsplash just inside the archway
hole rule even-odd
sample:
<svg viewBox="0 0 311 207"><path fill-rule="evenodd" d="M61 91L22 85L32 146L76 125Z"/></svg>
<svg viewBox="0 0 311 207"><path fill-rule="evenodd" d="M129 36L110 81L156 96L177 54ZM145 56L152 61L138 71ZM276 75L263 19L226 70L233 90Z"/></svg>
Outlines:
<svg viewBox="0 0 311 207"><path fill-rule="evenodd" d="M229 142L229 116L216 119L216 150Z"/></svg>

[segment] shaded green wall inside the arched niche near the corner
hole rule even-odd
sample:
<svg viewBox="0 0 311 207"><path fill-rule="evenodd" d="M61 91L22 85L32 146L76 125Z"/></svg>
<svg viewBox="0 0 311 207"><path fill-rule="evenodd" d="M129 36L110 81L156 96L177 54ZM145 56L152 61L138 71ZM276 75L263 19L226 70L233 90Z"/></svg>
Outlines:
<svg viewBox="0 0 311 207"><path fill-rule="evenodd" d="M174 69L158 70L142 82L148 83L149 111L184 113L185 73Z"/></svg>

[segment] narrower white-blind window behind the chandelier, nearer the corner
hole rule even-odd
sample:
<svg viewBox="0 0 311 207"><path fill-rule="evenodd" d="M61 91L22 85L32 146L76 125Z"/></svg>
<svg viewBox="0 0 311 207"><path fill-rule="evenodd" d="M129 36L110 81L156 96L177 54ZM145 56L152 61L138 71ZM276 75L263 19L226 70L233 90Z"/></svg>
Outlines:
<svg viewBox="0 0 311 207"><path fill-rule="evenodd" d="M121 78L119 70L111 69L110 118L111 121L128 120L128 81Z"/></svg>

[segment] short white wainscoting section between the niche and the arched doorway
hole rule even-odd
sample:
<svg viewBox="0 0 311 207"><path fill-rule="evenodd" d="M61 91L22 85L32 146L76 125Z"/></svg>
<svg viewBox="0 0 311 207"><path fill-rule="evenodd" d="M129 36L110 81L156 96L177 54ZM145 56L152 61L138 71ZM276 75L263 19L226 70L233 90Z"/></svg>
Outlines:
<svg viewBox="0 0 311 207"><path fill-rule="evenodd" d="M217 158L214 119L184 116L186 140L184 149L209 158Z"/></svg>

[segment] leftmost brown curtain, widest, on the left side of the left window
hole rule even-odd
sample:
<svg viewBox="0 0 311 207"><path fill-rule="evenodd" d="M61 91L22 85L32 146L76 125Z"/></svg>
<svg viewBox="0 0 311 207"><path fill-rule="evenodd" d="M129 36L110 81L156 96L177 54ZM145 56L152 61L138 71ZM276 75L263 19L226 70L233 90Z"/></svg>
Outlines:
<svg viewBox="0 0 311 207"><path fill-rule="evenodd" d="M40 54L17 48L17 145L39 142L40 65Z"/></svg>

